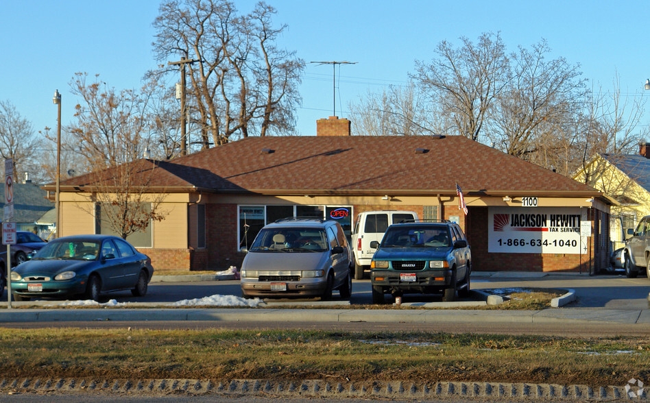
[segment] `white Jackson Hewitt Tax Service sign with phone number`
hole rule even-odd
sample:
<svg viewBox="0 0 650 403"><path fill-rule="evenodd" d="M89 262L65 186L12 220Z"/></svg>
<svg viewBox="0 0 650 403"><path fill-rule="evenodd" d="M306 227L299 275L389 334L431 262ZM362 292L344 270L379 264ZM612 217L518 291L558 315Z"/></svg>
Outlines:
<svg viewBox="0 0 650 403"><path fill-rule="evenodd" d="M488 208L488 252L579 254L580 209Z"/></svg>

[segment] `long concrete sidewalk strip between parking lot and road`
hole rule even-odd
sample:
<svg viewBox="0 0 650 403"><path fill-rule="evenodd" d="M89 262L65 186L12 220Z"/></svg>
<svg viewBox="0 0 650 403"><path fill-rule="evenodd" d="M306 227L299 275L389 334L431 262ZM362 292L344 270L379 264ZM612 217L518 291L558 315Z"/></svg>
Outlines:
<svg viewBox="0 0 650 403"><path fill-rule="evenodd" d="M370 323L626 323L650 324L649 310L367 310L282 308L3 309L0 323L51 321L283 321Z"/></svg>

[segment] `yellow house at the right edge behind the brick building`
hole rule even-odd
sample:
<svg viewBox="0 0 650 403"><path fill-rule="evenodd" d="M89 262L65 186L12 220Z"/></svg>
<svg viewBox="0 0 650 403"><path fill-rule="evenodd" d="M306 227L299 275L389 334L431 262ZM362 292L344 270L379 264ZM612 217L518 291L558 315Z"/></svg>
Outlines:
<svg viewBox="0 0 650 403"><path fill-rule="evenodd" d="M612 199L612 251L625 245L628 229L650 215L650 143L641 143L639 148L639 154L594 156L573 175Z"/></svg>

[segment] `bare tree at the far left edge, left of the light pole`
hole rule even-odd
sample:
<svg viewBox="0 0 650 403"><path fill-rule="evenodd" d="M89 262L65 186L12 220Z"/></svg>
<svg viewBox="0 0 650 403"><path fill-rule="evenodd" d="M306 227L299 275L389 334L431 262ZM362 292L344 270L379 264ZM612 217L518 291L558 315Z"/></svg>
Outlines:
<svg viewBox="0 0 650 403"><path fill-rule="evenodd" d="M23 118L10 101L0 101L0 156L14 160L14 180L35 172L36 144L32 123Z"/></svg>

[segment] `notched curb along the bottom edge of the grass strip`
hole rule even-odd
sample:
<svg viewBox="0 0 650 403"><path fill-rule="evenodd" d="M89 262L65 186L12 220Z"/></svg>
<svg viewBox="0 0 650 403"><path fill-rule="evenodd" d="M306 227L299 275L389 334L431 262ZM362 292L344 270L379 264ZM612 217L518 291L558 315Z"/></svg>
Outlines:
<svg viewBox="0 0 650 403"><path fill-rule="evenodd" d="M3 393L23 392L86 392L86 393L143 393L167 395L237 395L282 398L464 398L464 399L522 399L540 401L605 402L629 398L629 392L647 400L643 389L626 387L589 387L587 385L501 383L501 382L427 382L372 381L336 382L326 380L191 380L191 379L2 379Z"/></svg>

